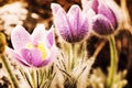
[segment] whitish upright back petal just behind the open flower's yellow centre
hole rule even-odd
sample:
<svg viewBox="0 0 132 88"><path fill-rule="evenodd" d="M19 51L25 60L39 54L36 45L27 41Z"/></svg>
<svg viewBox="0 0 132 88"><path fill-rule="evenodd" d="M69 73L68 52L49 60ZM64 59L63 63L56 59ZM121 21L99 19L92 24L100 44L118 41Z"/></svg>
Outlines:
<svg viewBox="0 0 132 88"><path fill-rule="evenodd" d="M33 44L37 44L40 41L44 41L46 36L46 31L43 24L37 25L33 33L32 33L32 38L33 38Z"/></svg>

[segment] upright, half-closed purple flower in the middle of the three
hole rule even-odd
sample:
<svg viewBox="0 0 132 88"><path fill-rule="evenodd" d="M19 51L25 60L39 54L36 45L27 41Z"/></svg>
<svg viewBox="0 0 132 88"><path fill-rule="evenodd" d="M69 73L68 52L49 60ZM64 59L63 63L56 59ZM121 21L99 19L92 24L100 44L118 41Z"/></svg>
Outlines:
<svg viewBox="0 0 132 88"><path fill-rule="evenodd" d="M57 3L52 3L54 24L59 35L69 43L81 42L88 35L88 20L80 8L72 6L66 13Z"/></svg>

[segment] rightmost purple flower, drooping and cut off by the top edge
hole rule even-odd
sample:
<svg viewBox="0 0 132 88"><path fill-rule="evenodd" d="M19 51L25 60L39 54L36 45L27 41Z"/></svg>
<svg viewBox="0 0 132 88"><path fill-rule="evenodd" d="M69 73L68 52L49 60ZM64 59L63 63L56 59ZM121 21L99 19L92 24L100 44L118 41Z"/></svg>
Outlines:
<svg viewBox="0 0 132 88"><path fill-rule="evenodd" d="M85 1L84 1L85 2ZM118 14L113 8L117 6L112 0L89 0L85 10L92 9L92 30L100 35L108 35L118 28ZM85 4L85 3L84 3ZM110 7L112 6L112 7Z"/></svg>

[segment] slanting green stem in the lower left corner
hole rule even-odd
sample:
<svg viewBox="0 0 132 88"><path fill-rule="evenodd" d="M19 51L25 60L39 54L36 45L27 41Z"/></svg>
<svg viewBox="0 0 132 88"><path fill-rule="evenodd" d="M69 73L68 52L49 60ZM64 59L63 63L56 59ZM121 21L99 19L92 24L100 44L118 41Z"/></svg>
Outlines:
<svg viewBox="0 0 132 88"><path fill-rule="evenodd" d="M4 55L1 56L1 61L4 64L4 67L6 67L7 72L9 74L9 77L10 77L12 84L13 84L13 87L14 88L20 88L20 86L19 86L19 84L18 84L18 81L16 81L12 70L10 69L10 65L8 63L8 59L7 59L7 57Z"/></svg>

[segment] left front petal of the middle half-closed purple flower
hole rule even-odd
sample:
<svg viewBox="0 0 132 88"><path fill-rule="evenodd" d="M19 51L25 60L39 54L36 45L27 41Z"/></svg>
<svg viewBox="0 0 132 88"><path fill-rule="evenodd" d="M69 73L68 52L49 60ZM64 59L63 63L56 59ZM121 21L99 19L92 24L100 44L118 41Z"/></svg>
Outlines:
<svg viewBox="0 0 132 88"><path fill-rule="evenodd" d="M64 10L59 10L55 15L55 26L65 41L73 41L72 28Z"/></svg>

